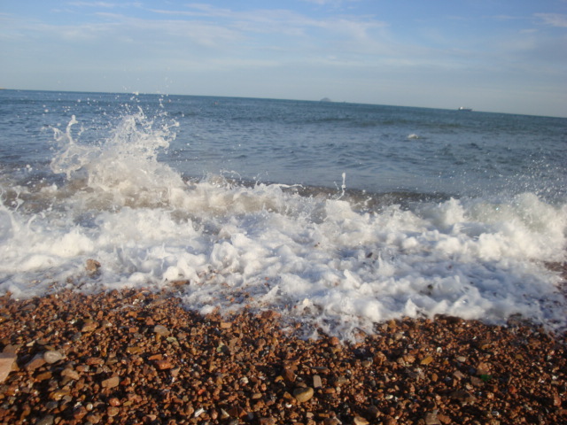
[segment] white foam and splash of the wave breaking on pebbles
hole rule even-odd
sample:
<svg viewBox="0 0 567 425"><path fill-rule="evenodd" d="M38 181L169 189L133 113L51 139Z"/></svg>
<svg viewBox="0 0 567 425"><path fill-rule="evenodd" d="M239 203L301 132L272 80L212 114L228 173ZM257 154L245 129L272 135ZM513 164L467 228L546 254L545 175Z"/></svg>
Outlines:
<svg viewBox="0 0 567 425"><path fill-rule="evenodd" d="M565 260L566 205L525 193L360 212L340 193L301 197L213 177L186 184L157 160L174 126L154 129L139 112L105 143L81 145L75 121L58 133L65 143L53 161L67 184L35 194L40 212L28 201L0 210L3 292L189 280L179 293L189 308L271 308L346 337L437 313L494 323L521 313L565 326L559 276L543 262ZM89 258L101 274L86 273Z"/></svg>

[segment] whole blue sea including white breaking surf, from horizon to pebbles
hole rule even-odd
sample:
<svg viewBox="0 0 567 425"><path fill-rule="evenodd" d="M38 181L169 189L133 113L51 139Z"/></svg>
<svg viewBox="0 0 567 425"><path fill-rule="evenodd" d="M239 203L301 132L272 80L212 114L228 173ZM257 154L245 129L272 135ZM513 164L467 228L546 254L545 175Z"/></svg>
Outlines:
<svg viewBox="0 0 567 425"><path fill-rule="evenodd" d="M562 331L567 119L458 106L0 90L0 294Z"/></svg>

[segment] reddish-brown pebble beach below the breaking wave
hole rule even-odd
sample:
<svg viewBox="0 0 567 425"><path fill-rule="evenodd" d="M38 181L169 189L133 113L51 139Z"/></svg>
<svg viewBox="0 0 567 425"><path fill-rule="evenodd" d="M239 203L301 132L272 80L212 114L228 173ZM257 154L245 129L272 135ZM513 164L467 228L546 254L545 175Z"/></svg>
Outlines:
<svg viewBox="0 0 567 425"><path fill-rule="evenodd" d="M271 311L202 316L168 292L6 295L0 423L561 423L566 336L437 317L343 344L300 339Z"/></svg>

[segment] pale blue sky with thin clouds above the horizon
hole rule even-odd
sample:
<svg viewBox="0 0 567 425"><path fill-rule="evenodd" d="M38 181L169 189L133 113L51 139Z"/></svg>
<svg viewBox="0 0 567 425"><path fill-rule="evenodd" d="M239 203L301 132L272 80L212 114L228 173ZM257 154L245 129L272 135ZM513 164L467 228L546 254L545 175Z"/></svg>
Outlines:
<svg viewBox="0 0 567 425"><path fill-rule="evenodd" d="M0 0L0 87L567 117L567 0Z"/></svg>

